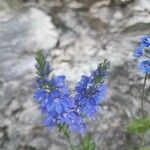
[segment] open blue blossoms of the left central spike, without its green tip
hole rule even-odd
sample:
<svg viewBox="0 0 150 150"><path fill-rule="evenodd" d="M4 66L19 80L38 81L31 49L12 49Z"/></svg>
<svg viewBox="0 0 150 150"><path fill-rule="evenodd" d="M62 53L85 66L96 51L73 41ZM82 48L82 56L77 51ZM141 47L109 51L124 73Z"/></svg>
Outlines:
<svg viewBox="0 0 150 150"><path fill-rule="evenodd" d="M53 86L59 85L55 78L52 81ZM50 80L51 81L51 80ZM62 81L62 80L61 80ZM65 85L65 84L63 84ZM61 84L61 87L63 86ZM66 124L70 130L83 134L86 131L86 125L82 116L76 109L75 101L68 94L64 94L61 88L54 88L53 91L46 91L38 88L35 92L35 98L40 104L41 112L44 114L44 125L49 129L56 127L58 124Z"/></svg>

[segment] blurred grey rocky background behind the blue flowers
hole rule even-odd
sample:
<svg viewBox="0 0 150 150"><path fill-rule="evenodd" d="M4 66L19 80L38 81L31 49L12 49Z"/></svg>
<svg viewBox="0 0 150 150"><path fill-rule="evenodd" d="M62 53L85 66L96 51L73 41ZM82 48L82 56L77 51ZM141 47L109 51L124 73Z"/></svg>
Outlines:
<svg viewBox="0 0 150 150"><path fill-rule="evenodd" d="M50 53L72 90L82 74L110 60L107 99L89 129L98 150L136 150L139 137L124 129L139 114L143 83L132 55L149 34L150 0L0 0L0 150L67 149L62 134L42 126L33 99L38 49ZM146 114L149 91L147 82Z"/></svg>

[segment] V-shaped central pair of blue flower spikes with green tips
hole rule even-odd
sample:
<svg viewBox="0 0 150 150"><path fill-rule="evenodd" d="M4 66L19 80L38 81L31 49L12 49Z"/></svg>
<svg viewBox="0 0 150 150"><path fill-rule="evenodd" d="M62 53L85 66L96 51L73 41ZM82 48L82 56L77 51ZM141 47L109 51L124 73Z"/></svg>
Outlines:
<svg viewBox="0 0 150 150"><path fill-rule="evenodd" d="M105 60L89 77L82 76L75 88L75 96L71 96L65 76L52 76L52 69L46 59L42 51L37 53L38 77L34 94L44 115L44 124L49 129L66 126L82 134L87 129L84 116L94 118L106 95L104 79L108 74L109 62Z"/></svg>

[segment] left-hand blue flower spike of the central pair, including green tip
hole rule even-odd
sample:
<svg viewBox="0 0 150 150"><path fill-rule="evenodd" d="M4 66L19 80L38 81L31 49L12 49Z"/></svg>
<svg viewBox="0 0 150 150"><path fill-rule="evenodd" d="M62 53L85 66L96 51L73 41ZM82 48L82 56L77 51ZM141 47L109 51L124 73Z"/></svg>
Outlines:
<svg viewBox="0 0 150 150"><path fill-rule="evenodd" d="M75 100L69 95L65 76L49 77L52 70L43 52L37 53L36 60L38 77L34 97L43 113L44 125L49 129L67 125L70 130L84 133L86 125L77 111Z"/></svg>

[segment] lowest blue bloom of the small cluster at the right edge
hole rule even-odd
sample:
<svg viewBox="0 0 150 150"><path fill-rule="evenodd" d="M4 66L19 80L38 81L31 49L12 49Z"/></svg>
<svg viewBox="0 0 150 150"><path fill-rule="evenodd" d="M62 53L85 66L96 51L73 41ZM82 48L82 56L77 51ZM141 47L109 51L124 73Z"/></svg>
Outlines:
<svg viewBox="0 0 150 150"><path fill-rule="evenodd" d="M144 60L140 62L139 68L144 73L150 73L150 60Z"/></svg>

